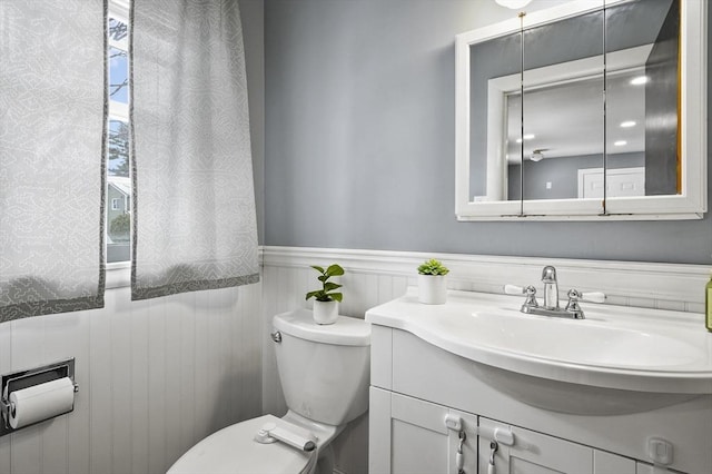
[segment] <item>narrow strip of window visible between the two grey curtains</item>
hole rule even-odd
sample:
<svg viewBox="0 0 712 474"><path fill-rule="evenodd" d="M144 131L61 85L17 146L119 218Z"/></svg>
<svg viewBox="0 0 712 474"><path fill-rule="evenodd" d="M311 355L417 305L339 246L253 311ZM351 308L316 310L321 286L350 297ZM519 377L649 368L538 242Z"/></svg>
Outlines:
<svg viewBox="0 0 712 474"><path fill-rule="evenodd" d="M109 124L107 137L107 263L130 259L128 2L109 1Z"/></svg>

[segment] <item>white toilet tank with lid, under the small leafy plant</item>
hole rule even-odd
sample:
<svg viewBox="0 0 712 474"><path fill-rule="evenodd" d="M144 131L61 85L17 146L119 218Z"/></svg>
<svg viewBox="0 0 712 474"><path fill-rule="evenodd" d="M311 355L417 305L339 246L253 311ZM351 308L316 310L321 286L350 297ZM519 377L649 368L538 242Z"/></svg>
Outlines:
<svg viewBox="0 0 712 474"><path fill-rule="evenodd" d="M277 367L293 412L339 426L368 409L370 324L339 316L318 325L308 309L277 315ZM279 338L279 337L277 337Z"/></svg>

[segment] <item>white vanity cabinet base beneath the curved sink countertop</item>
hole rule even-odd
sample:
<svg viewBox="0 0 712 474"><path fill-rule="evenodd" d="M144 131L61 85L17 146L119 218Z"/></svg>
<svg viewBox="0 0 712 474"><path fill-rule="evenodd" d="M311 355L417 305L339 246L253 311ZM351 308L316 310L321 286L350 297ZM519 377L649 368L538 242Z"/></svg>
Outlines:
<svg viewBox="0 0 712 474"><path fill-rule="evenodd" d="M461 431L466 474L488 473L494 438L496 474L652 474L651 437L674 446L668 472L709 472L706 395L641 413L557 413L493 387L481 364L377 324L370 361L372 474L457 474Z"/></svg>

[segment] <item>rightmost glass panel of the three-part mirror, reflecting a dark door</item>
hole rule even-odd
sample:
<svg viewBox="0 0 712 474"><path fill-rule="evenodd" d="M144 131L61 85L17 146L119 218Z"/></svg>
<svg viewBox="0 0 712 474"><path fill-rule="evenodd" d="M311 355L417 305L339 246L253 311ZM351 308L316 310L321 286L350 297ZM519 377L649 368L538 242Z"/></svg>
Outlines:
<svg viewBox="0 0 712 474"><path fill-rule="evenodd" d="M606 154L640 151L644 160L644 176L631 170L627 179L607 159L606 197L682 194L680 8L680 0L636 0L606 9L606 58L650 48L632 75L606 75ZM629 116L635 108L642 118Z"/></svg>

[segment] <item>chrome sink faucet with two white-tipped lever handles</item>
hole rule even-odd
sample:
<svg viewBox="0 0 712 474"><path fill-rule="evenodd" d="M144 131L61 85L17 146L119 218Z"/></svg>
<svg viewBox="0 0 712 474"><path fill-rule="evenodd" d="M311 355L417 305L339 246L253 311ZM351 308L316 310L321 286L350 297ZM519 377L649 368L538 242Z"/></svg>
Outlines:
<svg viewBox="0 0 712 474"><path fill-rule="evenodd" d="M585 318L583 309L581 309L578 302L605 302L605 295L603 293L583 294L576 289L571 289L567 293L568 304L565 308L560 307L556 268L551 265L545 266L542 270L542 283L544 284L544 304L542 306L540 306L536 302L536 288L531 285L525 288L522 288L521 286L505 285L504 293L507 293L510 295L526 295L526 300L520 309L522 313L540 316L565 317L572 319Z"/></svg>

